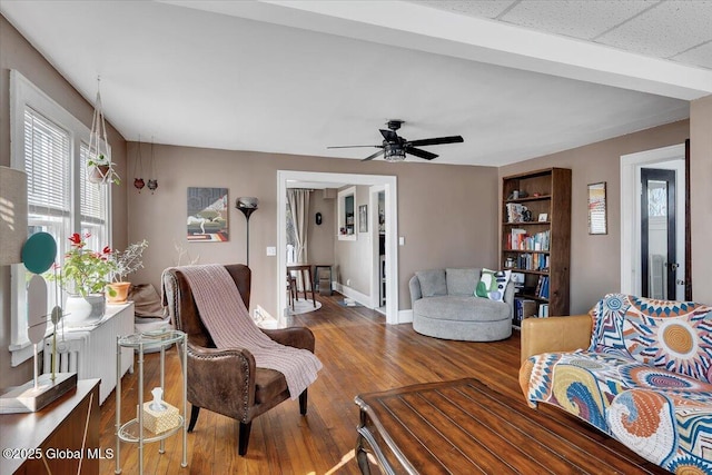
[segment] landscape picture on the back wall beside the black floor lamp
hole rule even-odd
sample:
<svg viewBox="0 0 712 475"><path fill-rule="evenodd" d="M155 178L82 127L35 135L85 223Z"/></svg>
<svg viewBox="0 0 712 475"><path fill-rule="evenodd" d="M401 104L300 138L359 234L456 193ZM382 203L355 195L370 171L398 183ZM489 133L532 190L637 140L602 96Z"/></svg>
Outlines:
<svg viewBox="0 0 712 475"><path fill-rule="evenodd" d="M228 240L227 188L188 188L187 238L189 243Z"/></svg>

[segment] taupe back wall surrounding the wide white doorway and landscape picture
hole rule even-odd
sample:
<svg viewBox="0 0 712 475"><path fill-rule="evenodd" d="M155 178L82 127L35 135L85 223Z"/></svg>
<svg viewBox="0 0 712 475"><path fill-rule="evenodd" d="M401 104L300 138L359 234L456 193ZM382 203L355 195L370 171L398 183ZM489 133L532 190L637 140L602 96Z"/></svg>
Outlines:
<svg viewBox="0 0 712 475"><path fill-rule="evenodd" d="M136 159L136 150L137 144L130 142L129 164ZM409 308L407 284L416 270L445 266L494 266L497 263L497 217L492 212L497 208L496 168L415 161L396 165L362 162L160 145L155 147L155 151L158 190L154 195L131 190L128 196L129 241L144 238L149 241L144 255L145 269L134 275L134 283L158 286L162 269L176 264L175 244L191 257L199 256L201 264L245 261L245 217L234 205L229 211L228 243L186 241L186 189L225 187L229 189L231 204L238 196L259 198L259 209L249 221L251 304L253 307L259 304L277 315L274 288L277 259L266 256L265 251L267 246L277 246L277 170L397 177L398 234L406 239L406 245L399 247L398 297L402 309ZM368 202L366 196L363 202ZM328 201L325 200L323 212L326 212ZM362 204L362 199L357 198L356 202ZM327 221L332 219L336 217L325 215L319 234L334 229L333 221ZM317 258L313 254L314 245L314 241L309 245L309 260ZM363 291L369 293L367 285Z"/></svg>

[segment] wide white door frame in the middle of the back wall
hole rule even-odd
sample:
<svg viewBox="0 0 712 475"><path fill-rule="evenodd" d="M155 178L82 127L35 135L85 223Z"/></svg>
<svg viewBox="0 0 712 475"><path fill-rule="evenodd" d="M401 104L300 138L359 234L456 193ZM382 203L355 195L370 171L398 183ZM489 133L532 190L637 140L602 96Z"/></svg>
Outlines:
<svg viewBox="0 0 712 475"><path fill-rule="evenodd" d="M397 247L397 184L395 176L383 175L350 175L350 174L328 174L315 171L277 171L277 308L281 318L287 308L286 293L286 275L287 267L287 238L286 238L286 209L287 209L287 188L290 182L306 184L348 184L363 185L372 187L380 187L384 191L384 209L386 216L393 217L385 222L385 271L387 279L385 283L386 293L389 298L386 300L385 315L386 324L398 324L398 247ZM373 197L373 192L370 192ZM369 207L372 210L375 207ZM369 212L370 216L375 214ZM372 221L373 222L373 221ZM369 229L377 229L376 226L369 226ZM334 229L336 235L337 229ZM369 234L369 237L372 235ZM377 239L373 239L372 241ZM373 286L372 286L373 288ZM373 297L373 293L372 293Z"/></svg>

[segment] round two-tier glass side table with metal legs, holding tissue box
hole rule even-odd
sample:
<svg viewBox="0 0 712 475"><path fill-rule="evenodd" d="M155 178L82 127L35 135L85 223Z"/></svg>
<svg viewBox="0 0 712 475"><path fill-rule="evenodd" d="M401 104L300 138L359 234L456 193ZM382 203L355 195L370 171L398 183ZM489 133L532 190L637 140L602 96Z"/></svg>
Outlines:
<svg viewBox="0 0 712 475"><path fill-rule="evenodd" d="M121 377L117 376L116 382L116 471L115 473L121 473L121 442L129 442L138 444L138 471L139 474L144 474L144 444L150 442L160 441L160 448L158 452L164 454L166 452L166 438L170 437L178 432L182 433L182 461L181 467L188 466L187 461L187 392L188 392L188 345L186 345L186 334L178 330L158 330L147 331L142 334L134 334L128 336L119 336L116 339L116 364L117 368L121 364L121 348L134 348L138 354L138 406L136 418L121 424ZM166 394L166 348L176 344L176 349L181 358L182 367L182 400L180 404L180 414L178 416L178 425L162 432L160 434L152 434L148 432L144 426L144 353L147 349L155 350L160 348L160 388L162 394ZM117 375L121 372L117 370Z"/></svg>

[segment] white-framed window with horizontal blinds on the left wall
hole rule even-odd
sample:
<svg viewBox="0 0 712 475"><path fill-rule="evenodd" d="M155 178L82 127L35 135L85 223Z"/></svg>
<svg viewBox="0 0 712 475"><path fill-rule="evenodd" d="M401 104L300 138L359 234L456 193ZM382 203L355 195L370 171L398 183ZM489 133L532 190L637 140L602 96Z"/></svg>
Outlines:
<svg viewBox="0 0 712 475"><path fill-rule="evenodd" d="M57 261L69 236L90 232L89 246L109 244L110 187L87 180L89 129L17 71L11 71L12 167L28 174L28 236L44 231L57 241ZM27 337L27 281L22 265L12 267L12 365L32 355ZM48 283L48 314L57 305ZM63 303L61 303L63 305Z"/></svg>

